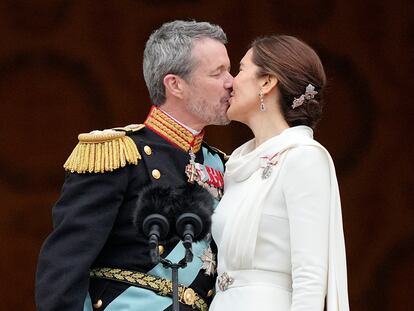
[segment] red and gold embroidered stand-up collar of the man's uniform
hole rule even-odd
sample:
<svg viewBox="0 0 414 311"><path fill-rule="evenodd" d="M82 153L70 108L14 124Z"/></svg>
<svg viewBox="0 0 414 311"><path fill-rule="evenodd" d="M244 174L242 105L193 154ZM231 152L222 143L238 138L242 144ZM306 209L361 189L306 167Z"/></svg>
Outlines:
<svg viewBox="0 0 414 311"><path fill-rule="evenodd" d="M204 130L194 135L156 106L151 107L144 123L146 127L186 152L192 150L197 153L201 148Z"/></svg>

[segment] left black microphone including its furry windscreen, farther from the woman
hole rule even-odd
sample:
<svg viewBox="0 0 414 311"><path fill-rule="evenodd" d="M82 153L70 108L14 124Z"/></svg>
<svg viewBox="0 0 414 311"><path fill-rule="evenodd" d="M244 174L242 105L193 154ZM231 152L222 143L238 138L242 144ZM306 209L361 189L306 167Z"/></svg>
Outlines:
<svg viewBox="0 0 414 311"><path fill-rule="evenodd" d="M175 221L173 214L175 205L176 200L169 187L146 187L138 198L133 221L138 233L148 237L153 263L158 263L160 260L158 242L169 239L175 234L175 230L170 230L170 224Z"/></svg>

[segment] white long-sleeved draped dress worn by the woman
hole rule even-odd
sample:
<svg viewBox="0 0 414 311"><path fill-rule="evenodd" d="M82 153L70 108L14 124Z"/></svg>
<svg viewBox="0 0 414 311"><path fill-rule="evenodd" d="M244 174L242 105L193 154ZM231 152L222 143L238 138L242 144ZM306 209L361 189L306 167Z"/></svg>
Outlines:
<svg viewBox="0 0 414 311"><path fill-rule="evenodd" d="M348 311L335 168L312 129L284 130L226 164L213 215L218 279L210 311Z"/></svg>

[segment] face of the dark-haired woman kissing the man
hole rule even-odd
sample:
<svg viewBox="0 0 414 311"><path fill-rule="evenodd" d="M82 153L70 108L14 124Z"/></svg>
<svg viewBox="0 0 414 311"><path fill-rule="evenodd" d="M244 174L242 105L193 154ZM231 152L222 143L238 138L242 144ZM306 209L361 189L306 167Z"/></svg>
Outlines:
<svg viewBox="0 0 414 311"><path fill-rule="evenodd" d="M229 100L227 117L245 123L248 117L260 109L260 84L256 77L258 67L252 62L252 49L240 61L240 70L233 80L233 92Z"/></svg>

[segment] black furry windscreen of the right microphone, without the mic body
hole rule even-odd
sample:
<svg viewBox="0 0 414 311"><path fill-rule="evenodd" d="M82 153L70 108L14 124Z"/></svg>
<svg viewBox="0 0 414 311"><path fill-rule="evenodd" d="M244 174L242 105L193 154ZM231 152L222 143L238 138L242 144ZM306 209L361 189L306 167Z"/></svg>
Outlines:
<svg viewBox="0 0 414 311"><path fill-rule="evenodd" d="M174 205L173 211L176 217L184 213L194 213L201 218L203 223L201 233L195 236L193 242L204 239L211 229L211 216L214 212L213 196L200 185L186 184L176 189L179 204Z"/></svg>

